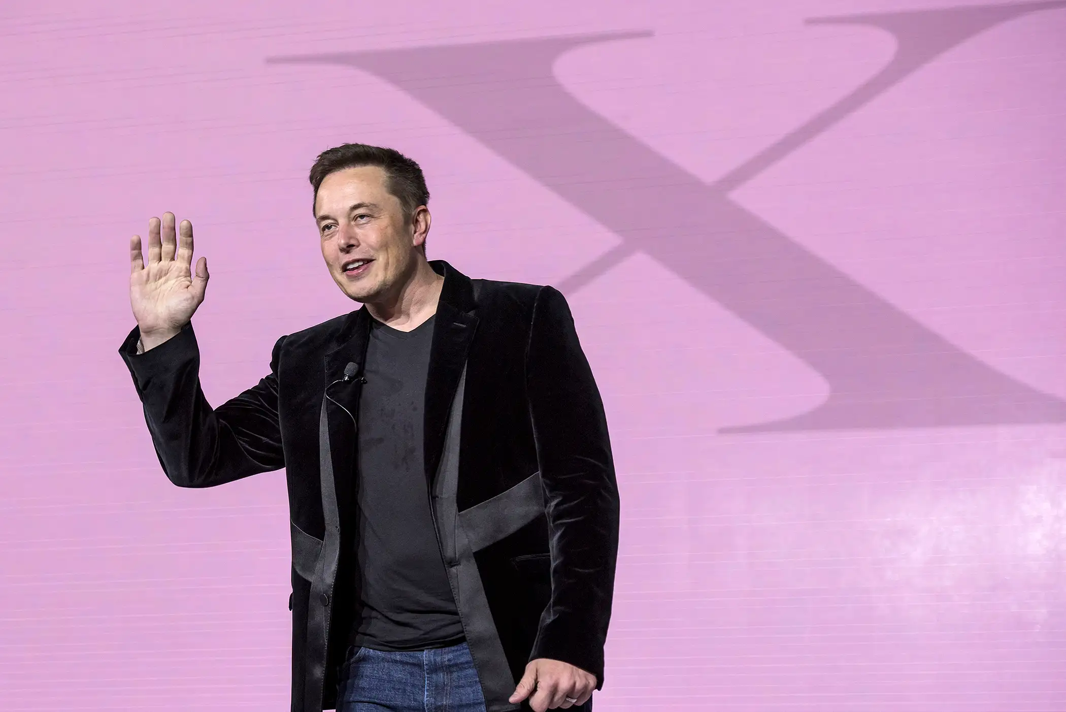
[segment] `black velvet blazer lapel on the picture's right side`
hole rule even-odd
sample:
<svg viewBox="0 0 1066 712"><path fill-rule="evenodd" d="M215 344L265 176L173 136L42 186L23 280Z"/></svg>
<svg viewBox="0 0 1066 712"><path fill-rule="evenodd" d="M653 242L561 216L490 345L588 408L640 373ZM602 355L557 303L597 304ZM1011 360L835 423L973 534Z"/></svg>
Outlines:
<svg viewBox="0 0 1066 712"><path fill-rule="evenodd" d="M478 328L477 306L470 279L442 260L430 263L443 274L437 303L437 322L430 346L430 371L425 383L425 430L423 433L425 476L431 485L440 463L448 415L470 343Z"/></svg>

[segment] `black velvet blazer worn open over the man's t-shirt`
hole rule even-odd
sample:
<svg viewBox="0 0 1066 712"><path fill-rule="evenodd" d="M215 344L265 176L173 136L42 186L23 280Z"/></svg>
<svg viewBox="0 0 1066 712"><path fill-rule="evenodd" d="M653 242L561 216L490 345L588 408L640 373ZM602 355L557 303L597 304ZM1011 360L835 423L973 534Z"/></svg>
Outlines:
<svg viewBox="0 0 1066 712"><path fill-rule="evenodd" d="M577 665L600 687L618 490L569 308L551 287L431 264L445 285L425 389L425 471L488 709L518 709L506 698L534 658ZM353 621L352 486L369 328L360 308L281 337L270 374L217 408L200 389L191 326L140 355L134 328L119 349L174 484L286 468L293 712L334 709Z"/></svg>

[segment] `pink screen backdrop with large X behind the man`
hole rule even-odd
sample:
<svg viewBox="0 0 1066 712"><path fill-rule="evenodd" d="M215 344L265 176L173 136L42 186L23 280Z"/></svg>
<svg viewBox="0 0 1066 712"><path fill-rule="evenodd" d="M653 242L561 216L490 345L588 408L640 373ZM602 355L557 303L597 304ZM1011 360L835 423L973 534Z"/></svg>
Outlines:
<svg viewBox="0 0 1066 712"><path fill-rule="evenodd" d="M0 7L0 709L288 709L280 472L184 490L127 241L208 398L351 310L307 171L425 169L430 256L553 284L621 550L597 710L1066 710L1066 2Z"/></svg>

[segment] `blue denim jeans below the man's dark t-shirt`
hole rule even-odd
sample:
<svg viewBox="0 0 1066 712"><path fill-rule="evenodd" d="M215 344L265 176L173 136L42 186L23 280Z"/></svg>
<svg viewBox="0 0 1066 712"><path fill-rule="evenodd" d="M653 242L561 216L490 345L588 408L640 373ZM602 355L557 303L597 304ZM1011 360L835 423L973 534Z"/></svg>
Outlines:
<svg viewBox="0 0 1066 712"><path fill-rule="evenodd" d="M466 643L387 652L352 646L337 682L337 712L485 712Z"/></svg>

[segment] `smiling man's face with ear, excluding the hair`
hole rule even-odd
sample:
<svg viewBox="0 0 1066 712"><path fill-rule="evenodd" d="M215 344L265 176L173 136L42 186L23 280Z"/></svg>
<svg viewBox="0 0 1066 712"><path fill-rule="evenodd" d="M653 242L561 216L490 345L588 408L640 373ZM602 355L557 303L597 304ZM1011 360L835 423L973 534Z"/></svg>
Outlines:
<svg viewBox="0 0 1066 712"><path fill-rule="evenodd" d="M387 185L376 165L345 168L325 177L314 200L322 257L334 281L356 302L394 294L417 269L429 229L429 212L423 208L424 215L408 223Z"/></svg>

